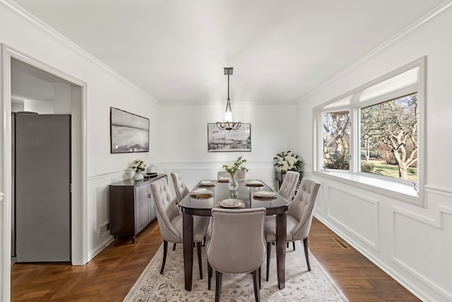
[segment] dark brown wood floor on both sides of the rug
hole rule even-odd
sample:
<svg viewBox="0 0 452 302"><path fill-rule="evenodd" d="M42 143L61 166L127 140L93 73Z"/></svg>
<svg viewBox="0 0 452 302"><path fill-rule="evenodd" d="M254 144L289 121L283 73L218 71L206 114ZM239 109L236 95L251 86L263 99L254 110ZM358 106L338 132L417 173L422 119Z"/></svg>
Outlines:
<svg viewBox="0 0 452 302"><path fill-rule="evenodd" d="M345 249L332 238L338 236L314 218L309 248L350 301L420 301L350 245ZM157 221L135 242L114 240L83 266L12 265L11 301L122 301L162 243Z"/></svg>

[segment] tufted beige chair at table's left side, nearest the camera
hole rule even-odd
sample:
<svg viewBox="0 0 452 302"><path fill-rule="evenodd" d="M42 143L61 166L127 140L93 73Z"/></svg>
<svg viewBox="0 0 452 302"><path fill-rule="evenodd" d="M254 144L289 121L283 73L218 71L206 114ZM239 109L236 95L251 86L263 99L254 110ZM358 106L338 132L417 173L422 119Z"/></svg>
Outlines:
<svg viewBox="0 0 452 302"><path fill-rule="evenodd" d="M165 178L151 182L150 186L154 194L158 226L163 237L163 260L162 268L160 269L160 274L163 274L167 260L168 242L182 243L182 213L179 212ZM196 249L198 250L200 279L203 279L201 242L206 236L208 223L209 217L194 216L193 241L196 243Z"/></svg>

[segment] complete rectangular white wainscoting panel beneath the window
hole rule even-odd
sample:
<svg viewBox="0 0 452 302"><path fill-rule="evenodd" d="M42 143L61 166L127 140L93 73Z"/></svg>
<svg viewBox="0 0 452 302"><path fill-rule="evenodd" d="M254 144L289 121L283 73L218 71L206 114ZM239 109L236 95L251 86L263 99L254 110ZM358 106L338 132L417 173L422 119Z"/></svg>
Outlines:
<svg viewBox="0 0 452 302"><path fill-rule="evenodd" d="M342 187L328 187L328 218L379 250L379 202Z"/></svg>

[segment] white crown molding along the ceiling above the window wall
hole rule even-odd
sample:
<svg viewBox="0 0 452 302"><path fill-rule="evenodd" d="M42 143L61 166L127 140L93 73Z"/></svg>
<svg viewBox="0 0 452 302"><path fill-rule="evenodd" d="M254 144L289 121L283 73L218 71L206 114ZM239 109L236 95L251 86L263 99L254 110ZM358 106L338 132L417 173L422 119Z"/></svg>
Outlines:
<svg viewBox="0 0 452 302"><path fill-rule="evenodd" d="M314 93L321 91L323 88L328 86L330 83L333 83L337 79L339 79L341 76L347 74L348 72L355 69L357 66L362 64L363 62L366 62L371 57L374 57L376 54L379 54L383 50L386 50L386 48L390 47L391 45L396 44L396 42L399 42L400 40L405 39L405 37L408 37L412 33L415 33L417 30L420 30L421 28L424 28L425 26L429 25L429 23L432 23L436 21L437 19L441 18L442 16L446 15L447 13L450 13L452 11L452 1L447 0L444 1L443 4L440 4L438 7L434 8L432 11L424 15L422 18L420 18L415 23L412 23L407 28L401 30L396 35L393 35L393 37L386 40L386 42L383 42L381 45L375 47L370 52L367 52L367 54L364 54L364 56L360 57L355 61L354 63L350 64L349 66L345 67L345 69L342 69L337 74L334 74L331 76L331 78L327 79L323 83L321 83L316 88L312 89L308 93L305 93L297 100L297 103L302 103L302 101L306 98L309 98L311 95L314 95Z"/></svg>

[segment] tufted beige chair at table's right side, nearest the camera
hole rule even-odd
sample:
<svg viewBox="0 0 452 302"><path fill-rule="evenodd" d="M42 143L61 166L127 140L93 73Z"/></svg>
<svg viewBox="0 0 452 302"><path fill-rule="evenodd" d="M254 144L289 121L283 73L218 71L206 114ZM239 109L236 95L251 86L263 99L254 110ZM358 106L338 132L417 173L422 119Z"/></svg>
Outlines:
<svg viewBox="0 0 452 302"><path fill-rule="evenodd" d="M287 211L286 241L287 243L292 241L295 250L295 241L303 240L304 257L306 258L309 271L311 270L311 264L309 263L308 236L309 230L311 229L312 216L314 215L314 202L316 201L319 187L319 182L303 178L302 183L299 185L298 192L295 194L292 203L289 205L289 210ZM267 242L267 281L268 269L270 267L271 244L276 241L275 225L275 216L267 216L265 223L265 236Z"/></svg>

